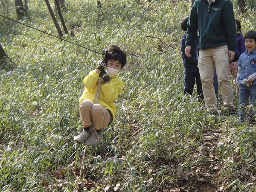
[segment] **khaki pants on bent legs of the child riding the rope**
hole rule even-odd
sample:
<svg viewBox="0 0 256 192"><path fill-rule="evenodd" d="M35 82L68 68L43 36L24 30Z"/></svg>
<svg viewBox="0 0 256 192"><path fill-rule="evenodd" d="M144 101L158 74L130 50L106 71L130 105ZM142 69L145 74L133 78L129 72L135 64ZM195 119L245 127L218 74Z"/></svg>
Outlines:
<svg viewBox="0 0 256 192"><path fill-rule="evenodd" d="M107 127L110 122L108 110L99 104L93 104L90 100L83 100L79 110L83 127L93 124L96 130L100 130Z"/></svg>

